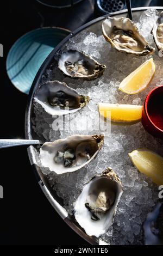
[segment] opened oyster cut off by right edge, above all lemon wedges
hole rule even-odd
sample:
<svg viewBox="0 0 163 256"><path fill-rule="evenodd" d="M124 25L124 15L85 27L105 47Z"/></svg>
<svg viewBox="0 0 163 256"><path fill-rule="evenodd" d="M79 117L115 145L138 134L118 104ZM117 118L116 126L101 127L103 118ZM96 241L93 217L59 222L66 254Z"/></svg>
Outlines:
<svg viewBox="0 0 163 256"><path fill-rule="evenodd" d="M160 13L158 21L154 24L152 29L153 39L155 41L158 51L163 53L163 11Z"/></svg>

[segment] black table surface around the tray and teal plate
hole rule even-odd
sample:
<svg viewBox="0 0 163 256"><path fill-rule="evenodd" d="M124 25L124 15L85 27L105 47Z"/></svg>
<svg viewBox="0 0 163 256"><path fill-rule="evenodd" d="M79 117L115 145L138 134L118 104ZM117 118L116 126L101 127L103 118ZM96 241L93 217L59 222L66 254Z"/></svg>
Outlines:
<svg viewBox="0 0 163 256"><path fill-rule="evenodd" d="M1 1L0 43L4 57L0 58L0 138L24 138L27 95L12 86L5 69L12 44L40 26L73 31L95 17L93 6L93 1L84 0L73 9L58 11L43 8L35 0L4 1L3 5ZM61 220L42 193L26 147L1 149L0 158L0 185L4 189L4 198L0 199L1 245L88 245Z"/></svg>

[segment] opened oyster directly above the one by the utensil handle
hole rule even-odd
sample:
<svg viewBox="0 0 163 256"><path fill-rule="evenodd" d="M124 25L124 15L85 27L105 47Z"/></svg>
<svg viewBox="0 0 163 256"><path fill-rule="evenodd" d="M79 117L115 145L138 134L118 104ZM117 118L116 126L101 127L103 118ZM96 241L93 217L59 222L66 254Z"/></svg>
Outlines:
<svg viewBox="0 0 163 256"><path fill-rule="evenodd" d="M48 114L65 115L78 111L89 102L89 96L79 95L66 83L52 81L42 84L34 96Z"/></svg>

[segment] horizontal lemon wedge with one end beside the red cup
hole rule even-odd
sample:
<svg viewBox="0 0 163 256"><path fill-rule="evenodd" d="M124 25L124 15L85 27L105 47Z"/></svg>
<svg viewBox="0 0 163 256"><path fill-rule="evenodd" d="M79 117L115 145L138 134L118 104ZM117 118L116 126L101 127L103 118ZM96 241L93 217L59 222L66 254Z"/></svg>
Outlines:
<svg viewBox="0 0 163 256"><path fill-rule="evenodd" d="M142 106L99 103L99 113L113 124L135 124L141 120Z"/></svg>

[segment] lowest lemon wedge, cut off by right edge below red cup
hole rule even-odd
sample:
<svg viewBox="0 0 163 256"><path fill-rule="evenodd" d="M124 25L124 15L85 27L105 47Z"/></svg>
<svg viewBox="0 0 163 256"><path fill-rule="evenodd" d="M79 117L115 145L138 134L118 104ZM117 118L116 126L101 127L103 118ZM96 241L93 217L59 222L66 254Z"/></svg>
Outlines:
<svg viewBox="0 0 163 256"><path fill-rule="evenodd" d="M131 162L157 185L163 185L163 157L148 149L136 149L129 153Z"/></svg>

